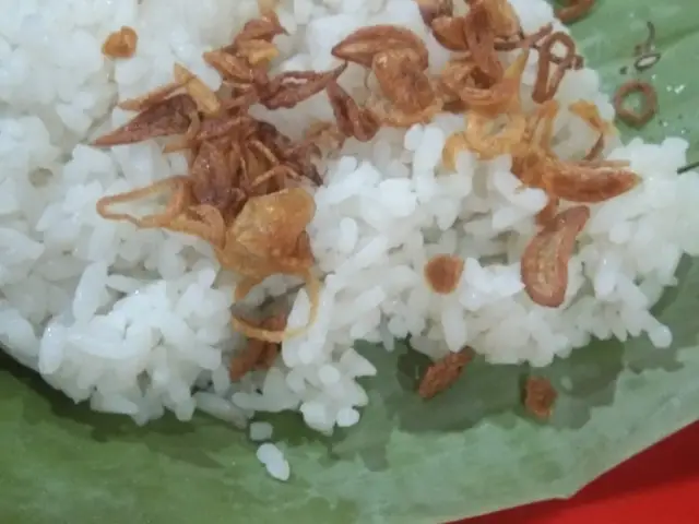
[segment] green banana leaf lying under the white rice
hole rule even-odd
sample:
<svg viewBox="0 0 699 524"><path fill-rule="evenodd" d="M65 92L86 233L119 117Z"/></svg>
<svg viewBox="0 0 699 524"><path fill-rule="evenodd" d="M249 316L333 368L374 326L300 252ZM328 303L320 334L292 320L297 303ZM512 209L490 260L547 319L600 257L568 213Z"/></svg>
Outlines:
<svg viewBox="0 0 699 524"><path fill-rule="evenodd" d="M633 48L656 29L661 60L641 73ZM572 32L613 92L652 82L660 115L640 131L690 141L699 159L699 2L597 0ZM0 521L88 523L440 523L569 497L620 461L699 418L699 264L655 312L671 349L641 337L595 342L538 370L559 392L553 418L524 416L525 367L475 361L429 403L415 393L427 362L404 346L359 349L379 368L370 405L323 438L299 417L271 417L292 478L269 477L245 432L205 416L137 427L92 413L0 358Z"/></svg>

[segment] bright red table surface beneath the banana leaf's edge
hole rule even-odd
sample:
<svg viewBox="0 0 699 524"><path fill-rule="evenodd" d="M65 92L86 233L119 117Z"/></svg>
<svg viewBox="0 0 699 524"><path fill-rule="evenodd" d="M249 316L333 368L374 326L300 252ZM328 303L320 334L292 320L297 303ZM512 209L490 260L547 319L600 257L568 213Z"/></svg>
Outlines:
<svg viewBox="0 0 699 524"><path fill-rule="evenodd" d="M459 524L699 524L699 422L597 478L570 500Z"/></svg>

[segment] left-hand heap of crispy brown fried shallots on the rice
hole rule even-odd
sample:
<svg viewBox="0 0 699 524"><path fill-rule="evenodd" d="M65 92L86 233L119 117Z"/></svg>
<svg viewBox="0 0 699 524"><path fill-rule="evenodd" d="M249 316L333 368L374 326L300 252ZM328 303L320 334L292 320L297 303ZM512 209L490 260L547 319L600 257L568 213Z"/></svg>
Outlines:
<svg viewBox="0 0 699 524"><path fill-rule="evenodd" d="M126 28L121 33L129 36ZM233 45L216 50L226 63L239 66L220 71L226 88L213 92L176 63L173 82L122 102L139 114L93 142L108 147L170 138L164 152L190 150L188 174L104 196L96 206L102 217L209 242L221 265L240 276L236 299L274 274L305 279L310 302L306 325L286 330L285 322L253 323L233 315L234 329L257 340L247 359L232 368L234 377L245 374L250 365L268 366L276 354L274 345L305 333L318 313L320 281L306 233L316 205L301 182L322 182L311 162L319 147L313 141L295 143L248 109L258 102L270 106L282 94L283 107L293 107L323 91L344 66L328 73L287 71L270 78L268 58L276 52L272 39L283 33L276 15L264 11L245 25ZM165 196L166 203L152 214L138 216L125 206L155 196Z"/></svg>

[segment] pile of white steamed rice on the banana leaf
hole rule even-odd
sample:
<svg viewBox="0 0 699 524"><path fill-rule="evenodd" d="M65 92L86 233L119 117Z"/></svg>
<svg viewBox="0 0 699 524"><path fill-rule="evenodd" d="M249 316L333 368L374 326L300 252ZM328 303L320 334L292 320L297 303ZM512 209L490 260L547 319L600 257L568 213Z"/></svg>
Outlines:
<svg viewBox="0 0 699 524"><path fill-rule="evenodd" d="M553 21L544 0L512 3L525 31ZM382 130L367 144L348 143L328 162L309 227L327 275L320 315L305 336L284 343L272 369L230 383L228 360L244 343L229 326L235 278L197 239L138 230L95 212L105 194L182 174L183 158L164 156L154 142L111 151L83 143L123 123L129 115L112 109L117 97L168 82L174 61L216 88L221 80L201 53L228 43L257 14L256 5L26 0L0 17L0 340L16 359L75 402L138 424L166 409L188 420L199 408L245 426L254 412L292 409L311 428L331 432L357 422L367 394L355 379L376 373L353 349L356 340L390 352L394 338L411 335L413 346L434 358L467 344L494 364L534 366L591 337L644 333L656 347L672 343L649 308L676 284L683 253L699 253L699 177L676 175L685 141L635 140L607 148L609 158L629 159L643 183L593 206L569 264L567 301L547 309L528 298L519 269L544 194L518 191L508 157L479 162L463 154L455 171L445 171L442 144L463 119L442 115L406 132ZM328 69L335 63L334 44L377 23L424 36L435 71L448 58L414 0L287 0L279 16L288 31L275 39L283 70ZM138 52L112 63L100 45L121 25L139 34ZM525 86L535 71L533 53ZM362 81L356 70L342 79L351 90ZM590 69L569 72L557 98L561 107L592 100L613 118ZM323 95L293 110L257 115L296 135L301 124L332 118ZM595 139L565 110L556 129L562 157L581 155ZM423 277L426 260L438 253L465 260L449 296L431 293ZM269 278L247 301L283 295L295 284ZM307 315L301 291L289 325ZM253 425L251 437L270 439L271 429ZM258 455L274 476L288 477L273 444Z"/></svg>

